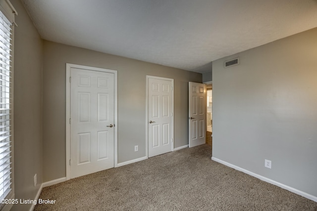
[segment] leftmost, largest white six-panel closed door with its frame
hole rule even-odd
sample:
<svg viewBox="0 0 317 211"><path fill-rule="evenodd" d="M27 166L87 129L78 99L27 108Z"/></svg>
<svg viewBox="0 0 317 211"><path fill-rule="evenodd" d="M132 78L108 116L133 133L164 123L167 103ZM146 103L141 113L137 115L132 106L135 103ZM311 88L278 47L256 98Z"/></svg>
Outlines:
<svg viewBox="0 0 317 211"><path fill-rule="evenodd" d="M66 70L71 77L66 97L66 179L70 179L117 165L117 92L116 71L72 64Z"/></svg>

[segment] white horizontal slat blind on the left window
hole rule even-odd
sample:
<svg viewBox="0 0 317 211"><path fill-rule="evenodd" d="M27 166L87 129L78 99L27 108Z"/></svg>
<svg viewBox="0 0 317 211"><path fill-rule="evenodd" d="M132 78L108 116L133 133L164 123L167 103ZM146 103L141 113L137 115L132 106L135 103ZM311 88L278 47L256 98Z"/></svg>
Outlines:
<svg viewBox="0 0 317 211"><path fill-rule="evenodd" d="M11 191L11 23L0 11L0 199Z"/></svg>

